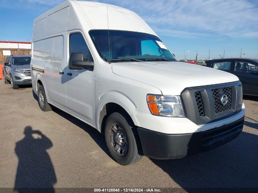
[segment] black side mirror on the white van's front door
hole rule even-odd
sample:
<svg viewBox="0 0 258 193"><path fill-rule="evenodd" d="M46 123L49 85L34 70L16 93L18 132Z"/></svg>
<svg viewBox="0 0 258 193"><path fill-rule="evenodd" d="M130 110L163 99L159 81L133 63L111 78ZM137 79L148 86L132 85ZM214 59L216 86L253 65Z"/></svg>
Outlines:
<svg viewBox="0 0 258 193"><path fill-rule="evenodd" d="M93 71L93 62L84 61L83 53L71 52L69 57L69 69L82 70L84 67L89 68L89 71Z"/></svg>

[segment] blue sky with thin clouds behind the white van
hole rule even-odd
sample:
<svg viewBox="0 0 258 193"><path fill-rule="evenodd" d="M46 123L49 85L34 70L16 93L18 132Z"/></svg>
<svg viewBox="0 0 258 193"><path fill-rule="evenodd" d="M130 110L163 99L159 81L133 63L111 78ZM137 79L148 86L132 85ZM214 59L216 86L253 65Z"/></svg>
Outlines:
<svg viewBox="0 0 258 193"><path fill-rule="evenodd" d="M31 39L33 20L63 0L1 0L0 41ZM99 0L136 12L177 59L258 58L257 0ZM189 52L187 52L187 50ZM243 57L242 56L242 57Z"/></svg>

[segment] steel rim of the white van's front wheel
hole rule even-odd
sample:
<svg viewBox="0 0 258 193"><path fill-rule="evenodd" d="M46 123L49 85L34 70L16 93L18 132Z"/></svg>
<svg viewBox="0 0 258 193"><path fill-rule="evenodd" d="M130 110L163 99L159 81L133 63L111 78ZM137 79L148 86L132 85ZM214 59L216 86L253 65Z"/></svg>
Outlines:
<svg viewBox="0 0 258 193"><path fill-rule="evenodd" d="M128 149L125 130L119 123L112 123L108 129L108 139L116 155L124 156Z"/></svg>

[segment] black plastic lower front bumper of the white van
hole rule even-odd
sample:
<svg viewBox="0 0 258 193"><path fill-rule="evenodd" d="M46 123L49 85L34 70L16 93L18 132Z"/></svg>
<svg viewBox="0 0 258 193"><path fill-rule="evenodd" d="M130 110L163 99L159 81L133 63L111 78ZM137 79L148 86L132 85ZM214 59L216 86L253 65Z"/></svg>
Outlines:
<svg viewBox="0 0 258 193"><path fill-rule="evenodd" d="M154 159L177 159L219 147L237 138L244 119L210 130L188 134L165 134L138 127L145 156Z"/></svg>

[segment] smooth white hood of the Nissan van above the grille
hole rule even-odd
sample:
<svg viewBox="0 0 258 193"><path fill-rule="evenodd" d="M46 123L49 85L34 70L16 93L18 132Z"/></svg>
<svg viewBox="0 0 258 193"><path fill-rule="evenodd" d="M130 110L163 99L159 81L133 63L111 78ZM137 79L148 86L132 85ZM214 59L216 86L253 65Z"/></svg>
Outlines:
<svg viewBox="0 0 258 193"><path fill-rule="evenodd" d="M180 95L187 87L238 81L231 73L182 62L119 62L113 73L152 85L163 95ZM151 93L155 94L155 93Z"/></svg>

